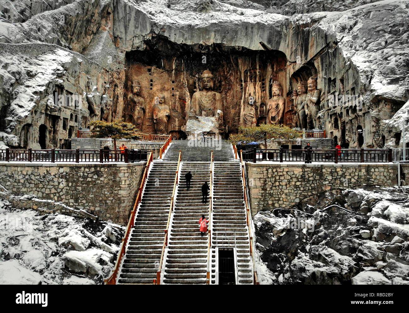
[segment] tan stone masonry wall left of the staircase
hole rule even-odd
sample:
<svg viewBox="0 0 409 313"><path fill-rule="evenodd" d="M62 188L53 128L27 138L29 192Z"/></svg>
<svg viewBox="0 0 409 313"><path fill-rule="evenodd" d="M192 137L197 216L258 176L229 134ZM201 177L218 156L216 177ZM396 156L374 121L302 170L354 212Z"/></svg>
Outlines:
<svg viewBox="0 0 409 313"><path fill-rule="evenodd" d="M122 164L0 163L0 184L126 225L146 162Z"/></svg>

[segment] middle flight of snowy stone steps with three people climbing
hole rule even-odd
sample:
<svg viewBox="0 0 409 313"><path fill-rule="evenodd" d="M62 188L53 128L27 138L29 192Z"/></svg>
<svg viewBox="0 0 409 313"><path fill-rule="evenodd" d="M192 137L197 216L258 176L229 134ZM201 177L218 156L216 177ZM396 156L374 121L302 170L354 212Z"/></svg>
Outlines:
<svg viewBox="0 0 409 313"><path fill-rule="evenodd" d="M189 190L184 178L188 171L192 173ZM182 162L164 284L206 284L208 236L201 236L198 224L202 214L209 220L209 200L202 203L204 182L210 186L210 162Z"/></svg>

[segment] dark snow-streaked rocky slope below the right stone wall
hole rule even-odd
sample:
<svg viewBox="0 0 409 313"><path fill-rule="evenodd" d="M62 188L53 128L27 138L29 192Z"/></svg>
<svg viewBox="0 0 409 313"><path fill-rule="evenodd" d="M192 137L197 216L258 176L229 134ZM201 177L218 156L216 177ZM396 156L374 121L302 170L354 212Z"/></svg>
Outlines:
<svg viewBox="0 0 409 313"><path fill-rule="evenodd" d="M261 280L267 284L409 283L405 192L367 187L343 191L335 198L326 195L324 203L347 210L332 207L317 212L323 207L305 207L314 218L297 210L258 212L254 228ZM300 224L301 228L288 223L297 218L311 223Z"/></svg>

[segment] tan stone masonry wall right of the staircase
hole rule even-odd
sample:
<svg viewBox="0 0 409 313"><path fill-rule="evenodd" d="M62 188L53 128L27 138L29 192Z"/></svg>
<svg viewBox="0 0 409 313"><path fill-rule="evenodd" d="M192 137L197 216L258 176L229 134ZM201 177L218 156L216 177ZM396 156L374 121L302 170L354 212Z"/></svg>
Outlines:
<svg viewBox="0 0 409 313"><path fill-rule="evenodd" d="M397 165L387 164L277 164L246 162L252 214L290 207L301 200L334 189L397 184Z"/></svg>

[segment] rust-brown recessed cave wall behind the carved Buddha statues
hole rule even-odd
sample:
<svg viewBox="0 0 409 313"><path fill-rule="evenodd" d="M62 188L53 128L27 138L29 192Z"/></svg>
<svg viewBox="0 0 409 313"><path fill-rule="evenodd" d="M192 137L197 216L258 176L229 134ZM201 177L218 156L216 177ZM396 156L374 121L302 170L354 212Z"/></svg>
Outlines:
<svg viewBox="0 0 409 313"><path fill-rule="evenodd" d="M144 43L144 50L126 53L122 110L125 121L135 121L136 105L130 97L143 99L144 117L135 124L144 133L155 133L152 112L154 99L161 93L170 110L167 133L183 136L191 97L200 90L199 77L205 70L213 74L213 90L222 98L226 137L237 133L238 126L243 124L243 110L249 97L254 97L256 120L262 123L273 83L280 83L281 96L288 94L287 58L281 51L222 44L176 44L163 36L154 36ZM139 85L140 89L135 91L133 86Z"/></svg>

